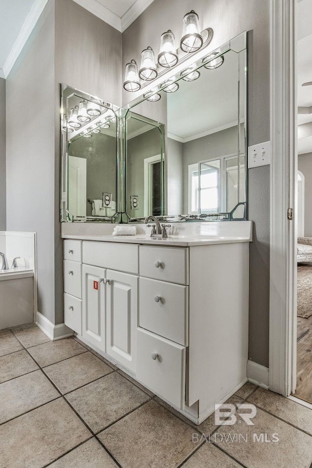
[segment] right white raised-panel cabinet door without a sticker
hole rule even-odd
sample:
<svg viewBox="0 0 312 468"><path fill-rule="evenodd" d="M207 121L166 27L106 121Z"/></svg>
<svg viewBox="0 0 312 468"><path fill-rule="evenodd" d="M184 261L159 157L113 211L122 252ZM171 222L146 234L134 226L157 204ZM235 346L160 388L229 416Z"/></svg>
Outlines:
<svg viewBox="0 0 312 468"><path fill-rule="evenodd" d="M107 270L106 279L106 352L136 372L138 277Z"/></svg>

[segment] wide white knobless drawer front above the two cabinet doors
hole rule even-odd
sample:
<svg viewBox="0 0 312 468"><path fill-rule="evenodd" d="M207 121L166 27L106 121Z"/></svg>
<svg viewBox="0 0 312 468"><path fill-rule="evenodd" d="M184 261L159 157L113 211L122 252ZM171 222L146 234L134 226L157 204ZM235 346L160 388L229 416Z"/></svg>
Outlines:
<svg viewBox="0 0 312 468"><path fill-rule="evenodd" d="M88 265L138 273L138 246L114 242L82 242L82 261Z"/></svg>

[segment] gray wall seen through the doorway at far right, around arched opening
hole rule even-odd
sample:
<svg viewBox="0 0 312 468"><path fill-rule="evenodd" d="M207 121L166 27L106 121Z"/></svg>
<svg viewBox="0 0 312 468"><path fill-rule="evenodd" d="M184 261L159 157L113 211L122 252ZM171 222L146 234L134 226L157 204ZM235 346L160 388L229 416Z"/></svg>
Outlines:
<svg viewBox="0 0 312 468"><path fill-rule="evenodd" d="M312 237L312 153L298 155L298 170L304 175L304 235Z"/></svg>

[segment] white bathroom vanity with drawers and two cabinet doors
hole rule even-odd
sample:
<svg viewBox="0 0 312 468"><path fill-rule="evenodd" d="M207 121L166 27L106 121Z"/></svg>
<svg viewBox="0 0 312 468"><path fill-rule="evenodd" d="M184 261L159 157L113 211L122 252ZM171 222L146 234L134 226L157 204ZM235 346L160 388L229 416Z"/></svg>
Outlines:
<svg viewBox="0 0 312 468"><path fill-rule="evenodd" d="M65 324L196 423L247 380L252 226L211 224L165 240L62 234Z"/></svg>

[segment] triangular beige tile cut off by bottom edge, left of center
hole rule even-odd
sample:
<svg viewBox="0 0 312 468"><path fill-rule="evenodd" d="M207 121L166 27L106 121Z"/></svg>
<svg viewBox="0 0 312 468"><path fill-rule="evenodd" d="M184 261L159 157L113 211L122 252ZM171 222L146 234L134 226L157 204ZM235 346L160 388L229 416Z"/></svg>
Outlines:
<svg viewBox="0 0 312 468"><path fill-rule="evenodd" d="M93 438L52 463L49 468L117 468L117 464Z"/></svg>

